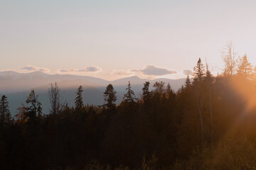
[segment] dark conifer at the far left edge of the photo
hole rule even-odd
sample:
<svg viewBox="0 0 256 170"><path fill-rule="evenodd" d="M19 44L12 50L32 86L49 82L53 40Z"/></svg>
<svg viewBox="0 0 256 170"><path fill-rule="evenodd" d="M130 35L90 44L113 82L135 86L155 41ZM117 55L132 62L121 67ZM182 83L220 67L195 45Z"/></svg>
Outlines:
<svg viewBox="0 0 256 170"><path fill-rule="evenodd" d="M11 113L9 111L9 102L7 97L4 95L1 97L0 101L0 123L1 125L6 125L11 122Z"/></svg>

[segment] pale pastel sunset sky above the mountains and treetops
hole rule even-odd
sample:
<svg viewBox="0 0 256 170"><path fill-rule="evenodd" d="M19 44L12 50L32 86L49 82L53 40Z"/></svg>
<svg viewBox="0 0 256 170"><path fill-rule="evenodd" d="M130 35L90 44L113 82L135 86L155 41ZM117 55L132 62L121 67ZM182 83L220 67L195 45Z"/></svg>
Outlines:
<svg viewBox="0 0 256 170"><path fill-rule="evenodd" d="M0 0L0 71L179 79L222 72L232 41L256 64L255 1Z"/></svg>

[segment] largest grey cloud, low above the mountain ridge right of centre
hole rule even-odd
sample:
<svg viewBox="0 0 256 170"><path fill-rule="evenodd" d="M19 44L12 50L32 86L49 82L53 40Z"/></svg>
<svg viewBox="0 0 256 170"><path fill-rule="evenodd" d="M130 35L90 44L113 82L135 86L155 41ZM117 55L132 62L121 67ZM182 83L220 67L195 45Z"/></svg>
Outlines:
<svg viewBox="0 0 256 170"><path fill-rule="evenodd" d="M177 72L174 70L169 70L166 68L155 67L154 65L147 65L146 68L141 69L140 72L145 75L151 76L163 76L167 74L176 74Z"/></svg>

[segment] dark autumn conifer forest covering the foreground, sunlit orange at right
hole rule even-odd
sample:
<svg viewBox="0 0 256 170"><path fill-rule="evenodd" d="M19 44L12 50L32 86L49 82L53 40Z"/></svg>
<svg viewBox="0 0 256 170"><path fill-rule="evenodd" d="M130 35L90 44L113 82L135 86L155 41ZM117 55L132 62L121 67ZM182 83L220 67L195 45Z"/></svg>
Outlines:
<svg viewBox="0 0 256 170"><path fill-rule="evenodd" d="M127 82L118 106L112 84L102 106L79 86L75 107L52 84L48 114L33 89L14 117L1 96L0 169L256 169L256 67L232 45L222 55L221 74L199 58L178 91Z"/></svg>

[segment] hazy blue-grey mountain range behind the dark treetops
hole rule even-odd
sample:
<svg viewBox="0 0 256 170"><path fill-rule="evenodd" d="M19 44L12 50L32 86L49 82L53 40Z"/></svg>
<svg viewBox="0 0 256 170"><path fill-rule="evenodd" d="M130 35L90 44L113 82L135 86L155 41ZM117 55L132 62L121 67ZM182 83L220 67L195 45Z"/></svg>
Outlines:
<svg viewBox="0 0 256 170"><path fill-rule="evenodd" d="M131 82L132 89L139 98L142 94L142 87L145 81L149 81L151 86L156 81L164 81L170 84L174 91L182 86L185 79L140 79L139 77L127 77L114 81L107 81L95 77L77 76L70 74L46 74L43 72L18 73L18 72L0 72L0 94L6 95L9 100L10 111L12 115L17 113L17 108L21 107L21 103L25 103L31 89L38 94L38 99L42 103L43 113L48 113L50 103L48 101L48 88L50 84L57 82L61 89L63 102L67 102L69 106L74 105L75 91L78 86L83 88L84 103L93 105L102 105L103 92L108 84L114 86L117 91L117 104L122 101L126 92L128 81Z"/></svg>

